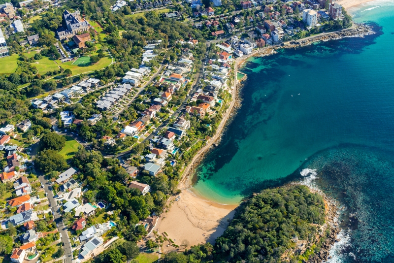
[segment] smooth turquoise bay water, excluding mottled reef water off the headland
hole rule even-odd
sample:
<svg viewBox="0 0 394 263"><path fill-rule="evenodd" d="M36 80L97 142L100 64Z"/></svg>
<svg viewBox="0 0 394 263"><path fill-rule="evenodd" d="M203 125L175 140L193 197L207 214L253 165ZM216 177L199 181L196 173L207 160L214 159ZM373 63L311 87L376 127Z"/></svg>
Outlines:
<svg viewBox="0 0 394 263"><path fill-rule="evenodd" d="M393 150L394 6L378 5L354 16L375 35L249 60L242 107L199 166L197 194L237 203L343 143Z"/></svg>

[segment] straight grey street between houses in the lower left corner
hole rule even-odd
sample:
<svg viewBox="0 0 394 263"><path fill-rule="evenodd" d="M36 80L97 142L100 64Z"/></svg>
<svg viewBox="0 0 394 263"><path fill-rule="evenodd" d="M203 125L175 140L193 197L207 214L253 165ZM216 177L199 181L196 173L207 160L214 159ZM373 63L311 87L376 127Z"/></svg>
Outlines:
<svg viewBox="0 0 394 263"><path fill-rule="evenodd" d="M44 185L44 191L47 194L48 201L49 201L49 204L51 206L51 211L52 211L53 217L55 219L56 225L58 226L58 230L59 230L59 232L62 235L61 239L62 239L62 242L64 244L63 248L65 250L65 256L66 256L65 263L71 263L72 259L73 259L71 243L70 243L70 240L68 238L66 227L63 224L62 216L58 212L58 207L57 207L56 200L55 200L55 198L53 198L53 192L52 192L52 190L50 190L51 187L49 185L49 182L45 179L45 176L42 175L39 172L37 174L40 174L38 176L38 179L40 180L41 184Z"/></svg>

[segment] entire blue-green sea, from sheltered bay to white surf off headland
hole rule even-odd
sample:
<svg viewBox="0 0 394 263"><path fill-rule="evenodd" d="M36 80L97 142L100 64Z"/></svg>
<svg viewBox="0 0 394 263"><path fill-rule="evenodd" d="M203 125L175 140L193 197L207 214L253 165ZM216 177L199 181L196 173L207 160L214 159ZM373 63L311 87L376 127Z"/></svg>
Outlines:
<svg viewBox="0 0 394 263"><path fill-rule="evenodd" d="M192 190L235 204L315 169L314 183L345 206L345 241L329 262L394 262L394 2L349 11L377 33L283 49L240 69L242 106Z"/></svg>

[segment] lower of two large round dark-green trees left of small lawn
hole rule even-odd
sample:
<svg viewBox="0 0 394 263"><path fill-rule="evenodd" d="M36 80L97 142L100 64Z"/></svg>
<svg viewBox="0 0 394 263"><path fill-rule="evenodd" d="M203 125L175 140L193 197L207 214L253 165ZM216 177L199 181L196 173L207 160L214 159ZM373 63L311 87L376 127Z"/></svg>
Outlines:
<svg viewBox="0 0 394 263"><path fill-rule="evenodd" d="M43 172L61 171L67 168L65 158L55 150L43 150L35 157L35 166Z"/></svg>

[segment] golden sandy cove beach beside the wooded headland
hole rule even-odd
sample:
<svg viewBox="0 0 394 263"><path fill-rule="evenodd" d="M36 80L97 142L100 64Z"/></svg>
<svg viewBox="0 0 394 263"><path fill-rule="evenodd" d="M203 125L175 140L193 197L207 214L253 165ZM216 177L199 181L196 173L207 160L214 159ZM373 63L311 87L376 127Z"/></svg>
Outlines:
<svg viewBox="0 0 394 263"><path fill-rule="evenodd" d="M183 190L179 201L171 198L169 212L163 214L160 232L166 232L175 244L187 240L189 247L210 242L226 230L228 219L234 216L236 205L221 205L197 197L190 190ZM175 250L163 246L162 251Z"/></svg>

